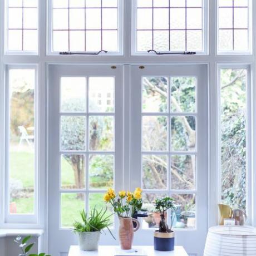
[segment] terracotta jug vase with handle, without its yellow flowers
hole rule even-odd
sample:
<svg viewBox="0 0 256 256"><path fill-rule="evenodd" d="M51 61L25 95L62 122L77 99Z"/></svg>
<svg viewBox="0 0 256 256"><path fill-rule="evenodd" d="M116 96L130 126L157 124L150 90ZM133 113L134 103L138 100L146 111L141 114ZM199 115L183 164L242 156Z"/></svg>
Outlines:
<svg viewBox="0 0 256 256"><path fill-rule="evenodd" d="M119 217L119 220L119 241L121 249L130 250L132 242L134 240L134 232L136 232L140 228L140 223L138 220L134 218ZM134 228L132 221L134 221L137 224L136 228Z"/></svg>

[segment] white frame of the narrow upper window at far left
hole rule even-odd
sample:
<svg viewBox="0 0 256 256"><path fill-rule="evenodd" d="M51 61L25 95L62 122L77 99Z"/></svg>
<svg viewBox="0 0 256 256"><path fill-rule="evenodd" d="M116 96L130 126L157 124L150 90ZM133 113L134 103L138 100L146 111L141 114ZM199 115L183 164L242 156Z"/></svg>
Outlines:
<svg viewBox="0 0 256 256"><path fill-rule="evenodd" d="M8 50L8 0L4 0L3 4L4 4L4 53L6 55L23 55L23 56L29 56L29 55L38 55L38 50L39 50L39 45L40 45L40 37L39 37L39 1L40 0L36 0L37 2L37 50L36 51L10 51Z"/></svg>

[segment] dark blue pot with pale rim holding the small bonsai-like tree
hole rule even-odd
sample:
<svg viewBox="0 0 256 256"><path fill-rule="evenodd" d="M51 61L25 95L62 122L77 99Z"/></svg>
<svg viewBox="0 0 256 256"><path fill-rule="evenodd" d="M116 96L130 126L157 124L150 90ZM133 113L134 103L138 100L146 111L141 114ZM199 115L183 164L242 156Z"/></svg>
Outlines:
<svg viewBox="0 0 256 256"><path fill-rule="evenodd" d="M174 232L162 233L154 232L154 249L161 251L174 250Z"/></svg>

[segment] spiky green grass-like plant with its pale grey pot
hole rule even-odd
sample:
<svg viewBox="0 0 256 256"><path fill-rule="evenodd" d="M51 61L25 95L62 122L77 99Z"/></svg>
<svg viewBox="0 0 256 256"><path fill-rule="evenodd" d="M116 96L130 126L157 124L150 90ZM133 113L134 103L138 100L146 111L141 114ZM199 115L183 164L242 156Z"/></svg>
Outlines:
<svg viewBox="0 0 256 256"><path fill-rule="evenodd" d="M107 209L97 210L91 209L90 214L85 210L80 212L82 221L75 221L73 224L73 232L78 234L79 247L81 250L91 251L97 250L99 246L100 234L102 230L107 228L111 233L109 226L112 224L110 216L106 214Z"/></svg>

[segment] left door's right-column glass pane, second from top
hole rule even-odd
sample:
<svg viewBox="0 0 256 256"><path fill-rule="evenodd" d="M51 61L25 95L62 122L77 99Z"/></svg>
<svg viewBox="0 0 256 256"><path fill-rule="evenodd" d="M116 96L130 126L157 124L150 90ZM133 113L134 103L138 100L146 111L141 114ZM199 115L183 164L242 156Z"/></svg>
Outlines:
<svg viewBox="0 0 256 256"><path fill-rule="evenodd" d="M114 150L114 116L90 116L90 150Z"/></svg>

